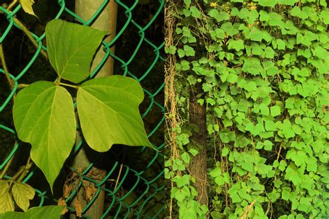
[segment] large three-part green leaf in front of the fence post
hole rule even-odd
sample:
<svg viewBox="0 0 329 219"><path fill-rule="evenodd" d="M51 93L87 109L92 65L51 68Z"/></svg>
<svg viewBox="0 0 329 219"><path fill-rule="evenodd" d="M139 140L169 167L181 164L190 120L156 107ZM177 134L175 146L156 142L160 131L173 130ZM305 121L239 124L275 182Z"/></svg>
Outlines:
<svg viewBox="0 0 329 219"><path fill-rule="evenodd" d="M90 76L92 57L105 33L60 20L50 21L46 29L47 52L58 80L34 82L19 91L13 117L19 139L31 143L31 158L52 191L74 146L77 126L72 97L60 85L78 89L81 129L94 150L105 152L114 143L152 146L138 110L144 92L137 81L110 76L91 79L80 86L60 82L61 78L81 82ZM29 197L19 201L19 207L26 209ZM6 208L13 210L12 206Z"/></svg>

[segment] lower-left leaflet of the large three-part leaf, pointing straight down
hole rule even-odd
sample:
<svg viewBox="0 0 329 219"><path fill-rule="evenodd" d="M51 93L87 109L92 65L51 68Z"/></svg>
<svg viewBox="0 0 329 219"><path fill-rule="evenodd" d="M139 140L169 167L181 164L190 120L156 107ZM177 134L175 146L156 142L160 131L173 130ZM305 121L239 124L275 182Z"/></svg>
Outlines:
<svg viewBox="0 0 329 219"><path fill-rule="evenodd" d="M13 116L19 139L31 143L31 158L52 189L76 139L69 92L53 82L35 82L17 94Z"/></svg>

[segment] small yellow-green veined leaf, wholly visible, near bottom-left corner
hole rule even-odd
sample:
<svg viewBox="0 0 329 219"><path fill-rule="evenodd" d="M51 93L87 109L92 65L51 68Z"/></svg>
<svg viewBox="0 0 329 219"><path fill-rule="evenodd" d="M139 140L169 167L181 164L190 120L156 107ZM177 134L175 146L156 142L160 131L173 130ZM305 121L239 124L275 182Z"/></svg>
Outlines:
<svg viewBox="0 0 329 219"><path fill-rule="evenodd" d="M14 183L11 191L12 197L18 207L23 211L27 211L28 206L30 205L30 200L33 200L35 195L34 189L25 183Z"/></svg>

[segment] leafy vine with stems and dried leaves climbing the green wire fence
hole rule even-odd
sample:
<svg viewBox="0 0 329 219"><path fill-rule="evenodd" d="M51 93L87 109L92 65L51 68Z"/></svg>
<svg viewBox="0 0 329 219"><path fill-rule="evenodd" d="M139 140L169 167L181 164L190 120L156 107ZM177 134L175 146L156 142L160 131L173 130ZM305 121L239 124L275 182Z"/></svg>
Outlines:
<svg viewBox="0 0 329 219"><path fill-rule="evenodd" d="M12 1L8 10L15 6ZM24 11L34 15L33 1L19 1ZM33 44L39 42L16 17L14 22L21 28ZM44 173L51 191L60 170L71 153L76 140L77 121L73 98L64 87L77 90L76 108L78 121L87 144L97 152L110 150L113 144L127 146L148 146L153 148L146 136L138 106L144 99L144 91L139 82L124 76L90 79L90 66L94 53L101 44L106 32L69 23L60 19L49 21L46 26L47 53L45 58L57 73L56 82L37 81L31 85L19 85L12 109L17 137L31 143L31 155L10 179L6 175L12 157L0 175L0 218L30 218L49 216L59 218L67 209L65 200L58 207L34 207L28 209L30 200L35 196L34 189L24 183L33 164ZM0 59L6 80L12 90L15 86L6 65L3 45L0 44ZM65 79L73 84L62 82ZM89 79L89 80L87 80ZM96 116L95 116L96 115ZM16 143L15 143L16 144ZM122 165L121 165L122 168ZM121 169L120 169L121 171ZM88 174L92 174L92 170ZM119 176L118 176L119 177ZM67 182L76 181L74 175ZM23 181L23 182L22 182ZM95 188L83 185L87 199L92 200ZM65 184L63 198L67 198L72 188ZM25 211L15 212L15 203ZM77 216L81 216L81 205L75 203Z"/></svg>

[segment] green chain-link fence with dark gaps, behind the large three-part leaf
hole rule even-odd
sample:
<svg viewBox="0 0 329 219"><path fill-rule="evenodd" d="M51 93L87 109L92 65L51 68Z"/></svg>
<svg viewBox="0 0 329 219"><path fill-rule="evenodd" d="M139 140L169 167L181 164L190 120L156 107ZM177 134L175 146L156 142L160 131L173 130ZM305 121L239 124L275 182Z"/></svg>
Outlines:
<svg viewBox="0 0 329 219"><path fill-rule="evenodd" d="M76 13L74 13L74 8L67 6L69 2L66 3L65 0L58 0L56 7L51 8L51 10L57 12L53 19L71 19L72 21L78 21L80 24L90 26L108 3L109 0L104 0L99 6L99 9L96 10L96 13L90 17L89 20L83 20L76 15ZM142 3L138 0L126 2L118 0L116 3L119 6L118 19L121 20L121 24L118 22L116 37L109 43L102 43L101 49L103 49L106 55L103 56L103 59L98 63L96 69L92 71L90 78L94 78L106 60L112 57L115 59L116 74L123 74L124 76L135 78L141 83L145 93L141 111L146 132L155 148L160 151L164 147L162 128L165 110L162 106L164 59L161 56L164 43L160 42L157 44L155 40L149 39L149 35L152 35L152 31L155 30L155 24L158 23L158 19L162 19L161 15L164 0L142 1ZM136 17L143 7L153 8L153 11L150 12L148 17ZM54 78L54 74L49 76L47 72L44 72L47 71L46 67L37 70L42 62L40 61L42 60L42 51L47 51L45 47L45 40L47 39L44 39L44 30L42 30L43 34L41 35L30 32L34 38L33 41L36 49L33 48L33 53L29 53L29 55L22 55L22 46L25 47L26 45L22 44L19 51L19 49L10 49L10 44L15 44L14 41L17 41L17 39L15 39L17 33L24 35L22 25L19 24L19 15L22 14L23 10L21 6L18 5L16 8L12 8L11 11L6 10L6 6L0 6L0 11L0 22L2 23L0 23L0 44L3 45L6 60L7 58L10 60L10 56L12 56L12 59L15 60L13 62L24 63L24 67L17 67L15 69L11 69L10 64L8 64L10 78L15 82L15 86L12 87L11 90L10 86L6 84L6 69L3 67L0 69L1 173L12 157L14 157L12 163L17 163L16 165L18 166L21 163L24 164L24 161L26 161L28 157L26 153L29 152L30 149L28 144L18 141L15 128L12 124L12 98L19 89L19 85L44 78L52 77L53 80L56 78ZM4 22L6 22L6 24L4 24ZM127 42L130 41L136 42L135 45L128 45ZM6 46L7 44L9 46ZM115 54L110 52L112 46L116 46L117 52ZM33 46L30 45L30 47ZM12 66L19 66L17 63L12 64ZM35 76L33 76L31 72L35 73ZM40 72L44 72L43 74L41 73L42 76L40 76ZM14 145L13 148L12 144ZM70 159L76 155L82 145L83 142L81 141L74 147ZM110 157L110 159L107 158L106 162L100 161L102 159L101 157L104 156ZM64 173L61 173L59 177L62 180L58 179L56 182L56 184L63 186L64 182L67 182L67 177L72 175L70 171L75 171L76 175L79 176L78 179L80 182L78 182L78 187L74 188L65 200L68 205L67 209L69 209L71 213L74 213L75 209L74 207L69 207L69 203L76 196L78 189L83 188L83 181L88 181L94 185L96 192L92 200L84 207L82 211L83 214L93 204L99 193L104 191L106 197L102 218L158 218L162 215L165 209L165 195L163 192L163 155L161 152L155 152L147 148L135 149L117 146L112 149L112 151L110 150L110 152L107 152L106 155L99 153L98 158L99 159L94 159L92 163L83 170L76 170L73 166L69 166L68 163L65 164L65 168L63 168L64 170L62 171ZM98 163L105 165L107 170L106 175L103 176L101 180L95 180L89 175L90 170ZM15 171L17 172L17 169ZM12 173L15 173L15 171L13 170ZM11 177L10 171L4 176L6 179L10 179ZM57 204L58 199L56 198L59 198L60 195L56 196L56 192L55 195L51 195L50 189L42 185L40 183L41 181L46 180L36 166L31 169L31 172L28 173L22 181L31 184L35 188L37 195L35 195L35 199L32 202L33 205L43 206L47 204ZM61 191L61 189L59 189L59 191ZM84 217L87 218L87 216Z"/></svg>

